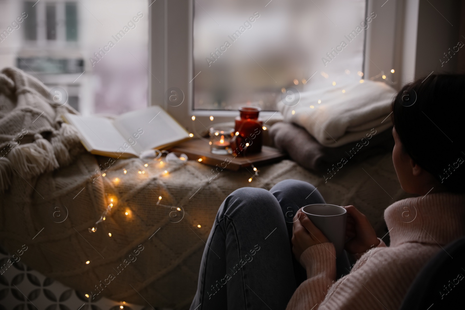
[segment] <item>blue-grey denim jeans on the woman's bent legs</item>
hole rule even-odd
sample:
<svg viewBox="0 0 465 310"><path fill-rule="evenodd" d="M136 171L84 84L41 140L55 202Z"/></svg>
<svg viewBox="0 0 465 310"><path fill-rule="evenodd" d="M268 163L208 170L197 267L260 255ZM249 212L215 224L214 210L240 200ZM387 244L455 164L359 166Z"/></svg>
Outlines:
<svg viewBox="0 0 465 310"><path fill-rule="evenodd" d="M306 270L291 248L292 221L307 204L324 204L316 188L285 180L270 191L244 187L219 207L200 264L190 310L285 309ZM344 267L349 266L344 261Z"/></svg>

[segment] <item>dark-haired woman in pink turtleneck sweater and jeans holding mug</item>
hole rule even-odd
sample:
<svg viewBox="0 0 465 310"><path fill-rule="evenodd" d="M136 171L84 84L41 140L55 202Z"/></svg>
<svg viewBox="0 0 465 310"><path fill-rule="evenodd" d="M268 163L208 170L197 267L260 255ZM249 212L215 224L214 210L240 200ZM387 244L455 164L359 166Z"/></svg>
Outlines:
<svg viewBox="0 0 465 310"><path fill-rule="evenodd" d="M219 208L191 310L398 309L424 264L465 235L464 89L464 75L431 75L392 103L392 161L404 191L419 196L385 210L389 247L346 206L345 250L359 260L338 280L334 246L300 212L325 203L312 185L241 188ZM403 213L413 210L416 218L406 221Z"/></svg>

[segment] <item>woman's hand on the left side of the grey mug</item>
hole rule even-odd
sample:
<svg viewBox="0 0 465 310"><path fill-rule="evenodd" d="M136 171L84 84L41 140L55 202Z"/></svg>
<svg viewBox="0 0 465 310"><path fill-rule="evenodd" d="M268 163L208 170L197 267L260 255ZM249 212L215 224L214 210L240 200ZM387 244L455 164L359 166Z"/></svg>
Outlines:
<svg viewBox="0 0 465 310"><path fill-rule="evenodd" d="M292 252L297 261L300 255L315 244L329 242L323 233L313 225L312 221L301 210L294 216L292 225Z"/></svg>

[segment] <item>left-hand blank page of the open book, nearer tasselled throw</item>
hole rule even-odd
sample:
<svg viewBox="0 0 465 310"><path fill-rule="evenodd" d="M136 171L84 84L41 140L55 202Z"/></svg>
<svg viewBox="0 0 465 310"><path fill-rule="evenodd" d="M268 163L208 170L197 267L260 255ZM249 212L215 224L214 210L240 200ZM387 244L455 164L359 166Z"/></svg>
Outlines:
<svg viewBox="0 0 465 310"><path fill-rule="evenodd" d="M122 153L139 156L113 126L112 120L70 113L65 114L65 119L78 129L88 151L107 153L111 157L119 157Z"/></svg>

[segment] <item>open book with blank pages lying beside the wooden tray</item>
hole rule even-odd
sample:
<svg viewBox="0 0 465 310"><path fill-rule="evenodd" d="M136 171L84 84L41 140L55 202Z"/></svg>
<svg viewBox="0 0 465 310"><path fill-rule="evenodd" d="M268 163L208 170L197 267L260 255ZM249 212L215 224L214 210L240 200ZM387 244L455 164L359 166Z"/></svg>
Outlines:
<svg viewBox="0 0 465 310"><path fill-rule="evenodd" d="M65 113L66 123L80 132L82 144L92 154L113 158L139 157L140 152L165 149L190 139L176 120L159 106L107 119Z"/></svg>

